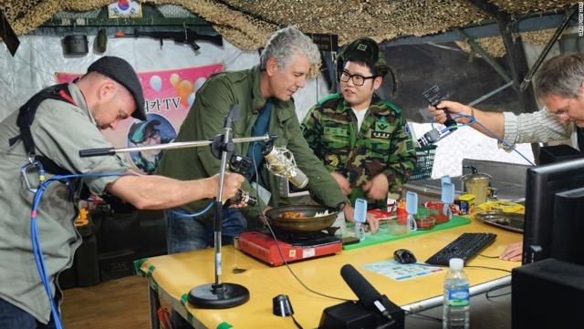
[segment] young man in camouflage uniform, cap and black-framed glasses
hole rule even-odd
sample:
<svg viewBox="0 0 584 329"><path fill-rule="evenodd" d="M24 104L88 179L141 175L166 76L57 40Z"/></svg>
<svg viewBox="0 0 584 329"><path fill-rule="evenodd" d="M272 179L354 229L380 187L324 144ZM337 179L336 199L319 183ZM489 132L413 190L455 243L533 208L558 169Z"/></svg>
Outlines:
<svg viewBox="0 0 584 329"><path fill-rule="evenodd" d="M353 41L339 61L341 94L308 111L303 134L351 203L363 198L381 207L415 167L412 137L401 109L375 94L388 72L375 41ZM370 222L371 231L378 227Z"/></svg>

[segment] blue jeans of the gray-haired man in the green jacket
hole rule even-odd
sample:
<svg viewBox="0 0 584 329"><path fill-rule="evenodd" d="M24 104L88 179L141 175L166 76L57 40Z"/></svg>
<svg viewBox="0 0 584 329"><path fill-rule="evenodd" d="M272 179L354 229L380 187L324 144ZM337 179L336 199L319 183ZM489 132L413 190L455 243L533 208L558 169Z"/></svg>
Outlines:
<svg viewBox="0 0 584 329"><path fill-rule="evenodd" d="M164 211L164 218L168 253L188 252L214 245L213 225L205 225L196 218L178 216L172 210ZM222 244L233 244L234 238L246 228L247 221L241 211L234 208L223 210Z"/></svg>

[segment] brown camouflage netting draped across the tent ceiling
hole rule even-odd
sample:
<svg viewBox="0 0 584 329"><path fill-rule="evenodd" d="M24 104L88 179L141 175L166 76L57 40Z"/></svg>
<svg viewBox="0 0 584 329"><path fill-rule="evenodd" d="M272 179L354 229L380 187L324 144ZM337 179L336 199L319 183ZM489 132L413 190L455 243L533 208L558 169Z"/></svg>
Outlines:
<svg viewBox="0 0 584 329"><path fill-rule="evenodd" d="M453 27L492 20L464 0L153 0L153 4L183 5L213 24L225 39L244 50L261 47L278 26L296 25L307 33L339 35L339 43L370 36L378 42L398 36L426 36ZM88 11L112 0L3 0L5 15L17 35L26 34L59 11ZM577 4L566 0L492 0L511 14L561 10ZM549 32L527 38L547 42ZM526 36L524 36L526 38ZM496 57L505 54L500 37L479 40ZM461 43L462 44L462 43Z"/></svg>

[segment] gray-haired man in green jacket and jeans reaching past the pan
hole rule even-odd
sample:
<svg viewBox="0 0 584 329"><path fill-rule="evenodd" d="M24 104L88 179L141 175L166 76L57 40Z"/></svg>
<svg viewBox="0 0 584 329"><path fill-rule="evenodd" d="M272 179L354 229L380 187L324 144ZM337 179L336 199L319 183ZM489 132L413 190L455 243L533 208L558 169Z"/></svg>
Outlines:
<svg viewBox="0 0 584 329"><path fill-rule="evenodd" d="M231 106L237 104L241 113L234 123L234 138L259 136L266 132L277 134L276 147L286 147L292 152L298 168L308 176L308 189L313 197L329 207L344 207L347 198L302 137L292 100L297 89L305 87L310 67L318 63L318 47L308 36L294 27L276 31L267 41L258 67L217 74L197 91L193 108L183 121L176 141L212 139L223 133L224 118ZM253 180L257 180L259 189L270 196L270 206L287 203L279 193L281 179L264 168L261 145L257 144L237 143L234 153L255 159L258 175ZM162 157L158 172L188 180L213 176L219 172L219 167L220 160L215 159L208 148L170 149ZM242 190L257 197L248 181L242 185ZM245 230L246 220L256 221L260 212L266 210L266 202L261 198L258 200L257 207L224 211L224 243L233 242L233 238ZM193 202L178 211L193 213L203 210L204 206L203 202ZM350 211L350 207L346 210ZM347 215L350 217L349 212ZM166 211L165 216L169 253L213 245L213 216L210 213L196 219L177 216L177 211Z"/></svg>

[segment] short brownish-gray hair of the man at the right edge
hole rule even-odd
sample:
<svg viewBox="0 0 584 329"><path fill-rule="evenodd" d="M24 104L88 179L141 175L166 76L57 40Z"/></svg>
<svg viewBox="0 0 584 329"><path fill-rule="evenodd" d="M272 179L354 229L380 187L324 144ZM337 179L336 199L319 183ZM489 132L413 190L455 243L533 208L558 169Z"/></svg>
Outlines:
<svg viewBox="0 0 584 329"><path fill-rule="evenodd" d="M552 57L537 74L537 97L558 95L575 98L579 95L582 81L584 81L584 54L564 54Z"/></svg>

